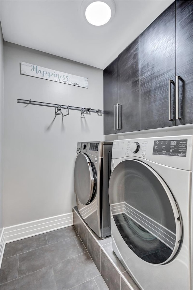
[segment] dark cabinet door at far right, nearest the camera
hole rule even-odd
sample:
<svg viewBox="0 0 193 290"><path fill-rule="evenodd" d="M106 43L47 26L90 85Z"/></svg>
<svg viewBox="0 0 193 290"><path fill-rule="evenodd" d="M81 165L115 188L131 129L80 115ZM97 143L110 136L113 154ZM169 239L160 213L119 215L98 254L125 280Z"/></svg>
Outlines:
<svg viewBox="0 0 193 290"><path fill-rule="evenodd" d="M176 125L193 123L193 1L176 1L176 102L181 119Z"/></svg>

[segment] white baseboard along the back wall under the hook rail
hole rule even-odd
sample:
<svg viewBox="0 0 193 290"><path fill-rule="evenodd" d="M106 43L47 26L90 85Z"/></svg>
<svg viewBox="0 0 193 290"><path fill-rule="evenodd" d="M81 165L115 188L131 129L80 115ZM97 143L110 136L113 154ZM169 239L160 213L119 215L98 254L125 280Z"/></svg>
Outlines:
<svg viewBox="0 0 193 290"><path fill-rule="evenodd" d="M4 243L54 231L73 225L72 212L3 228ZM1 253L1 252L0 252ZM1 256L0 256L1 257Z"/></svg>

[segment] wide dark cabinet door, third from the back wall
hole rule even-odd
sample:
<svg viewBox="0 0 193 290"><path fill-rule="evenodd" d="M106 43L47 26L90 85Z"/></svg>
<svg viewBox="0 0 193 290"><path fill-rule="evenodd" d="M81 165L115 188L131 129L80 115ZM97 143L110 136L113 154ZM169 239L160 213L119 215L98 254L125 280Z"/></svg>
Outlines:
<svg viewBox="0 0 193 290"><path fill-rule="evenodd" d="M175 126L176 6L173 2L140 35L140 129Z"/></svg>

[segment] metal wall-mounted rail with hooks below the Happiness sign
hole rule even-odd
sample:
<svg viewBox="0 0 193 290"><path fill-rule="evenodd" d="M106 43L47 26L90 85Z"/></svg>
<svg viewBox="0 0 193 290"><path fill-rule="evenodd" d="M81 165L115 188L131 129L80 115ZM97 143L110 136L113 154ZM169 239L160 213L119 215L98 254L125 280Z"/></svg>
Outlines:
<svg viewBox="0 0 193 290"><path fill-rule="evenodd" d="M62 117L69 115L69 110L75 110L75 111L81 111L82 114L87 114L89 112L91 113L104 113L103 110L94 110L91 108L82 108L82 107L73 107L73 106L67 106L67 105L58 105L58 104L51 104L51 103L43 103L43 102L37 102L30 100L23 100L23 99L17 99L17 103L21 104L29 104L29 105L37 105L37 106L44 106L44 107L53 107L55 108L55 116L60 115ZM66 115L63 115L62 109L67 109L68 113Z"/></svg>

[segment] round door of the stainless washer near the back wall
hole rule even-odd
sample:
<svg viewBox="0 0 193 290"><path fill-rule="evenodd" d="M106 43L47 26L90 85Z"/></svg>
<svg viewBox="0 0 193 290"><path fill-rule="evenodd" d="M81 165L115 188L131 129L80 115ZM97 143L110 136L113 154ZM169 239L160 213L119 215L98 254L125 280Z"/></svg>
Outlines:
<svg viewBox="0 0 193 290"><path fill-rule="evenodd" d="M95 171L90 158L79 153L74 168L75 192L82 204L89 204L96 190Z"/></svg>

